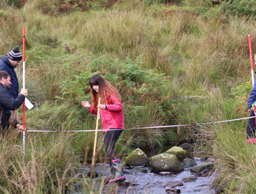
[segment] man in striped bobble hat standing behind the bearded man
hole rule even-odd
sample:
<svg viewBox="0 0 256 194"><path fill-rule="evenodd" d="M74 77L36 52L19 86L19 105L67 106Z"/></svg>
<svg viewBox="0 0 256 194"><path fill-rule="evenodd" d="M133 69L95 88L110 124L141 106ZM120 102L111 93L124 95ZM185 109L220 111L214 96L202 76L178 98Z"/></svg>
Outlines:
<svg viewBox="0 0 256 194"><path fill-rule="evenodd" d="M10 94L10 96L13 96L13 98L16 98L19 94L19 82L17 79L15 68L20 64L21 60L22 53L19 52L19 46L15 46L13 51L10 51L8 55L3 55L0 60L0 71L6 71L10 74L10 82L12 82L12 85L10 86L8 93ZM14 110L11 113L13 118L18 121L17 110Z"/></svg>

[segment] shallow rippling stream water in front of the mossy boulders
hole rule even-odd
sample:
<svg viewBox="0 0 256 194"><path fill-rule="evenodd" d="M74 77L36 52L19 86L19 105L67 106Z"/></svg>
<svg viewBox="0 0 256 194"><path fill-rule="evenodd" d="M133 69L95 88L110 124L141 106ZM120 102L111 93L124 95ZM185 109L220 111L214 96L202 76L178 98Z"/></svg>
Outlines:
<svg viewBox="0 0 256 194"><path fill-rule="evenodd" d="M197 164L201 162L195 158ZM150 173L150 168L147 167L135 167L132 169L124 168L125 176L127 178L126 184L106 184L100 188L102 177L110 177L109 164L96 164L95 170L98 173L98 177L93 179L95 182L95 193L127 193L127 194L162 194L166 192L166 184L173 181L180 181L187 177L193 177L193 182L183 182L184 186L177 186L176 189L180 189L184 194L214 194L216 193L211 188L211 182L214 179L214 175L209 177L198 177L193 175L189 168L185 168L182 173ZM83 168L83 173L89 173L90 166ZM141 173L139 173L141 172ZM100 192L99 192L100 191ZM77 191L77 193L86 193L85 191Z"/></svg>

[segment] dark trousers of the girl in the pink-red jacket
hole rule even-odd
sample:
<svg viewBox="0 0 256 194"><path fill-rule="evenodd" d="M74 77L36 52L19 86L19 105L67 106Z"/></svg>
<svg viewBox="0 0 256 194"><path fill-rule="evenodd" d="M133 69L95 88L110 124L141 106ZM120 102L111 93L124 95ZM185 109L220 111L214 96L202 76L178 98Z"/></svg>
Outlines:
<svg viewBox="0 0 256 194"><path fill-rule="evenodd" d="M113 130L113 129L111 129ZM109 158L113 158L117 156L117 153L114 150L115 142L118 141L118 137L120 136L122 130L113 130L104 132L104 145L106 149L106 155Z"/></svg>

